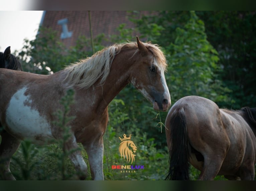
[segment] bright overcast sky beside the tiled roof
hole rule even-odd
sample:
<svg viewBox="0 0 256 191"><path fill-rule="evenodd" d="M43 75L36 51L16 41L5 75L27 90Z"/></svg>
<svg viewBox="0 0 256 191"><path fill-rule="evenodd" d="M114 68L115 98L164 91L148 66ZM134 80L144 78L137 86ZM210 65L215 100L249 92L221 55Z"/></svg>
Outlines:
<svg viewBox="0 0 256 191"><path fill-rule="evenodd" d="M43 11L0 11L0 52L23 47L24 39L35 39Z"/></svg>

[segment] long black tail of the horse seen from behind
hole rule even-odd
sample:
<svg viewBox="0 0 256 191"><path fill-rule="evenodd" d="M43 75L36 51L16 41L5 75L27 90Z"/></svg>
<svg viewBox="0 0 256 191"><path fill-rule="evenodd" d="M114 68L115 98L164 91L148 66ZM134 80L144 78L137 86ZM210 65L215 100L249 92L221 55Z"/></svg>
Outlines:
<svg viewBox="0 0 256 191"><path fill-rule="evenodd" d="M172 113L169 125L171 150L169 172L165 180L189 180L189 142L183 107Z"/></svg>

